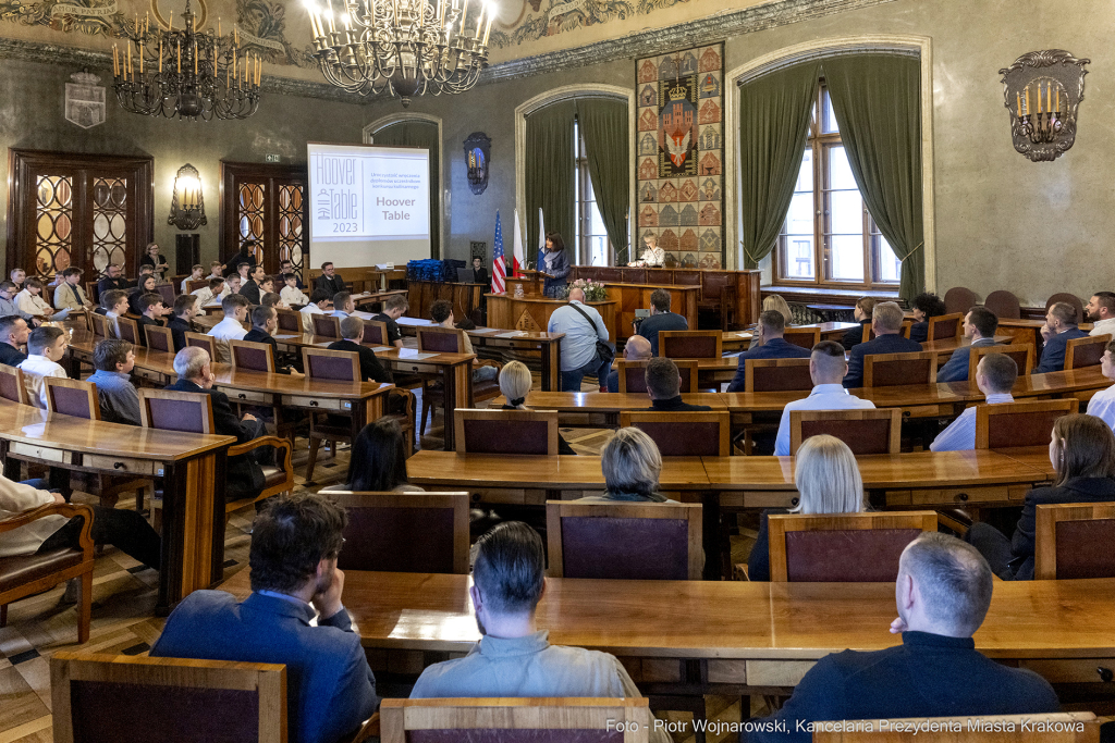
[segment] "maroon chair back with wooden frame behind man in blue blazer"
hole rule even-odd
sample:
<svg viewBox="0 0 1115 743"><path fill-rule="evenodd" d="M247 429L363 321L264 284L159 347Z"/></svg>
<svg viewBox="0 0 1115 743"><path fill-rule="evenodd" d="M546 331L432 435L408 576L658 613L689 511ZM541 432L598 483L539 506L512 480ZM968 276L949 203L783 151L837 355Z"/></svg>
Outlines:
<svg viewBox="0 0 1115 743"><path fill-rule="evenodd" d="M287 667L275 663L59 652L50 697L59 742L287 740Z"/></svg>

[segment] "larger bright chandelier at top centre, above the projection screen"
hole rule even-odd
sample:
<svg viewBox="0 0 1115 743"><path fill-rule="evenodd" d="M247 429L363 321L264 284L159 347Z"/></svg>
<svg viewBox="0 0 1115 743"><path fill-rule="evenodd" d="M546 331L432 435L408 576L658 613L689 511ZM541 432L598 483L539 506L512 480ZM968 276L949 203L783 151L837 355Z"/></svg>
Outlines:
<svg viewBox="0 0 1115 743"><path fill-rule="evenodd" d="M411 96L468 90L487 67L495 13L486 6L476 17L476 28L466 30L472 20L468 0L341 2L336 21L332 0L326 0L324 9L312 0L307 7L321 72L348 92L367 96L389 90L406 107Z"/></svg>

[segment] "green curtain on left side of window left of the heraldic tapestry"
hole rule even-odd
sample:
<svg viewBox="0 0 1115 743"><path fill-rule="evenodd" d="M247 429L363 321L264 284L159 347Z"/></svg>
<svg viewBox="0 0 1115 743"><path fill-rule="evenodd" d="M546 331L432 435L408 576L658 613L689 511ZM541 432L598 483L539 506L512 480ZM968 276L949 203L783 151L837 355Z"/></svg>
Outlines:
<svg viewBox="0 0 1115 743"><path fill-rule="evenodd" d="M573 115L576 104L564 100L550 104L526 117L526 221L527 261L539 252L539 208L546 232L559 232L573 255L575 190L573 188ZM572 264L573 261L570 260Z"/></svg>

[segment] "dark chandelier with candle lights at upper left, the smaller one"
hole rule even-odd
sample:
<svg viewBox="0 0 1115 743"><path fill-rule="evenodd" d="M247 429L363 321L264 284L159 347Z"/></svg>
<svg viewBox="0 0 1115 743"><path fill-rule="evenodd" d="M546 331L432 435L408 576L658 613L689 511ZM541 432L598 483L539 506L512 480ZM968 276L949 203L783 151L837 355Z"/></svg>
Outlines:
<svg viewBox="0 0 1115 743"><path fill-rule="evenodd" d="M193 121L254 114L260 104L260 57L240 48L236 28L222 36L220 19L216 33L198 32L190 0L182 19L182 29L174 28L171 16L165 29L156 22L154 31L149 14L125 22L126 49L113 45L113 89L120 107L142 116Z"/></svg>

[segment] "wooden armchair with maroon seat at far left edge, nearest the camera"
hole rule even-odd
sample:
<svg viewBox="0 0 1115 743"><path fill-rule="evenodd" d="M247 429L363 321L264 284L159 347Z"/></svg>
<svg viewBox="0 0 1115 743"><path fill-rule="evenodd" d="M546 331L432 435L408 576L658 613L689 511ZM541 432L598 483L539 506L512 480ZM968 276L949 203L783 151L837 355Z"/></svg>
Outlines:
<svg viewBox="0 0 1115 743"><path fill-rule="evenodd" d="M0 521L0 535L18 529L45 516L85 519L78 537L78 549L56 549L49 553L0 557L0 627L8 625L8 605L27 596L41 594L70 578L81 579L78 599L77 642L89 641L93 616L93 509L77 504L48 504ZM59 740L59 739L56 739Z"/></svg>

